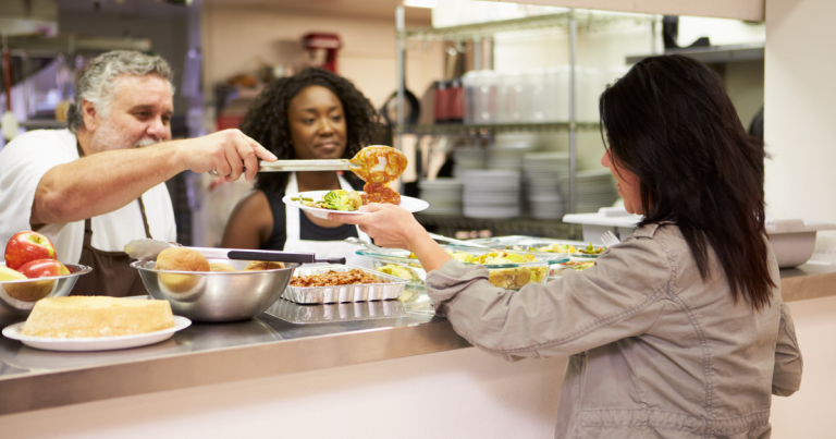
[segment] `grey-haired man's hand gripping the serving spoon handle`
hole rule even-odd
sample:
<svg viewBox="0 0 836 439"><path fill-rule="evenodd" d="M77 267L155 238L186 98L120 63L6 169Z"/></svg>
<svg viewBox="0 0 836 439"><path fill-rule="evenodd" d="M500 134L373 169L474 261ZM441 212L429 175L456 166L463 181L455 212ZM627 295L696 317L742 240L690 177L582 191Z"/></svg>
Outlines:
<svg viewBox="0 0 836 439"><path fill-rule="evenodd" d="M197 173L214 170L228 182L244 173L247 181L258 172L258 159L275 161L275 156L238 130L224 130L204 137L176 141L177 160Z"/></svg>

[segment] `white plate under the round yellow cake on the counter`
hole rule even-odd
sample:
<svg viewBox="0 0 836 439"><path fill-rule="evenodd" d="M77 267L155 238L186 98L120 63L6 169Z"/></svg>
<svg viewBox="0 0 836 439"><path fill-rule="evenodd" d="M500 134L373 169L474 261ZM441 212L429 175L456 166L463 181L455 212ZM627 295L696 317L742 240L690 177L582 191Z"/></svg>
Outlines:
<svg viewBox="0 0 836 439"><path fill-rule="evenodd" d="M174 316L174 327L159 331L138 333L136 336L115 336L115 337L85 337L85 338L57 338L57 337L32 337L21 333L21 328L25 321L14 324L3 328L3 336L12 340L20 340L23 344L32 347L47 351L113 351L118 349L127 349L145 346L147 344L159 343L170 339L174 332L188 328L192 320Z"/></svg>

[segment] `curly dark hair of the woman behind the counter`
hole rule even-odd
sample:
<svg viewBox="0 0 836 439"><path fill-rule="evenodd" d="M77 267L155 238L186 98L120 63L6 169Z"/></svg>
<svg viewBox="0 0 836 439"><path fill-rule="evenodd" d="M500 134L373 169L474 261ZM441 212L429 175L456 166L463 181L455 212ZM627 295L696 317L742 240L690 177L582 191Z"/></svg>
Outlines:
<svg viewBox="0 0 836 439"><path fill-rule="evenodd" d="M295 159L287 107L291 100L305 88L319 85L336 95L343 103L347 142L343 158L352 158L364 146L369 145L377 127L377 111L369 99L348 80L323 69L305 69L293 76L270 83L247 110L241 131L269 149L280 160ZM284 193L287 185L286 172L260 172L255 187L274 193Z"/></svg>

